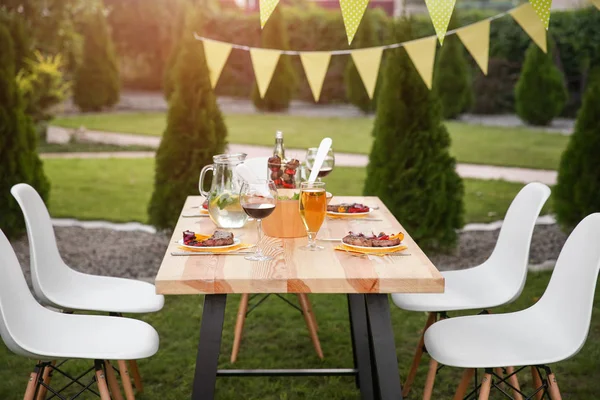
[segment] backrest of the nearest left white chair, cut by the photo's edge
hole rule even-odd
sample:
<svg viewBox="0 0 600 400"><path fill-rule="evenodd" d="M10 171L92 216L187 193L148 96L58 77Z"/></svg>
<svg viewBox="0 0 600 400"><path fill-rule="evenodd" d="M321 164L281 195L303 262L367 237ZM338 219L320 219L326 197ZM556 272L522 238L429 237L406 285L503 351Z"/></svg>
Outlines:
<svg viewBox="0 0 600 400"><path fill-rule="evenodd" d="M0 276L0 336L12 352L35 357L25 347L39 329L32 322L38 319L41 306L31 295L17 255L1 230Z"/></svg>

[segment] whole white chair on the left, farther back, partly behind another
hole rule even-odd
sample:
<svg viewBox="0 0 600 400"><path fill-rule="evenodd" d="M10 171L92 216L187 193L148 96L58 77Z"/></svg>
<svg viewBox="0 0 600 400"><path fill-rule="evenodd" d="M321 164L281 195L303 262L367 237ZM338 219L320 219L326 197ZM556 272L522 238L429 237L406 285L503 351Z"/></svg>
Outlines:
<svg viewBox="0 0 600 400"><path fill-rule="evenodd" d="M162 309L164 297L154 285L133 279L84 274L62 260L54 229L44 201L31 186L20 183L11 189L27 225L31 279L38 301L66 311L86 310L121 313L148 313ZM143 391L135 360L129 363L135 387Z"/></svg>

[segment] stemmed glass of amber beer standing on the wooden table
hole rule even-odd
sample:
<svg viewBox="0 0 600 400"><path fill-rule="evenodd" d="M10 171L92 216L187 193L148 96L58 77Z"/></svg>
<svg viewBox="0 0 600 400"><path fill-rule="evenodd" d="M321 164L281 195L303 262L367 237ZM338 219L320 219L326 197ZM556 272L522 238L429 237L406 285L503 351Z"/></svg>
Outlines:
<svg viewBox="0 0 600 400"><path fill-rule="evenodd" d="M319 251L317 232L321 229L327 214L327 192L325 182L302 182L300 184L300 217L308 233L308 245L301 250Z"/></svg>

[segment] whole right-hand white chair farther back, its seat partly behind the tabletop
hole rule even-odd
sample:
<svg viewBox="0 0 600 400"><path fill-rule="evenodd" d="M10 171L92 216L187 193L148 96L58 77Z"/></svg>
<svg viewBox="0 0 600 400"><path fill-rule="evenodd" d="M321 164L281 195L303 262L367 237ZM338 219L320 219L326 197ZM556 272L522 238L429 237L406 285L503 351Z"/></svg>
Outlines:
<svg viewBox="0 0 600 400"><path fill-rule="evenodd" d="M483 264L442 272L444 293L392 294L394 304L404 310L428 312L425 332L436 321L438 314L445 318L448 311L487 310L514 301L525 285L535 221L549 196L550 189L546 185L526 185L508 208L494 251ZM410 391L423 351L421 336L404 384L404 396ZM423 391L424 400L431 398L437 367L437 361L431 359ZM511 368L508 372L512 372ZM512 383L518 385L516 378Z"/></svg>

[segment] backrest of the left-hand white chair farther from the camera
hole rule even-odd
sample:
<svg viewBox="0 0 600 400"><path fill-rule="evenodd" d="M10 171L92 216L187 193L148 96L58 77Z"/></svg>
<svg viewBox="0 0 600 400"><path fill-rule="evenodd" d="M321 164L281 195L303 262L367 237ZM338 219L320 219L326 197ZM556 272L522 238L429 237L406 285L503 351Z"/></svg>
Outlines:
<svg viewBox="0 0 600 400"><path fill-rule="evenodd" d="M33 290L42 303L53 304L47 297L47 293L51 292L48 288L63 286L69 281L71 274L58 251L50 213L31 186L19 183L10 192L25 216Z"/></svg>

